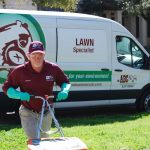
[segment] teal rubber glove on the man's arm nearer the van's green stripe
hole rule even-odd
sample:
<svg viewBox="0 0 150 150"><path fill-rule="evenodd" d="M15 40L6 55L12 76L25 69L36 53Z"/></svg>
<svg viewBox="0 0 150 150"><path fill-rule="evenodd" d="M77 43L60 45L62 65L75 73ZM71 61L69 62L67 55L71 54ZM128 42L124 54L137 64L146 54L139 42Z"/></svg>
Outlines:
<svg viewBox="0 0 150 150"><path fill-rule="evenodd" d="M62 90L58 93L56 101L62 101L67 99L70 87L70 84L63 83L61 86Z"/></svg>

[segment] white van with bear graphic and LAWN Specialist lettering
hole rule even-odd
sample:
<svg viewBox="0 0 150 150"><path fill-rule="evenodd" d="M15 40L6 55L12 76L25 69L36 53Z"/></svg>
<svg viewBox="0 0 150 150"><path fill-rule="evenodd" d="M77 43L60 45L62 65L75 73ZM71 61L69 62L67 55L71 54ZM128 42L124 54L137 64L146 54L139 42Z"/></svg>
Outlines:
<svg viewBox="0 0 150 150"><path fill-rule="evenodd" d="M1 86L11 68L27 60L33 40L44 43L46 59L72 84L68 100L56 108L136 104L150 111L149 53L119 23L78 13L0 10ZM0 90L1 110L15 109L16 101Z"/></svg>

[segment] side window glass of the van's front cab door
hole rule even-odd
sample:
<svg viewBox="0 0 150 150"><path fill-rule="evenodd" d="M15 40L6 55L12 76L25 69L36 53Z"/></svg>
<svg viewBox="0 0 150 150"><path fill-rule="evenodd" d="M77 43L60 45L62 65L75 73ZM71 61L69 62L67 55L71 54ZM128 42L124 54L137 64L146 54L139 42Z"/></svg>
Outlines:
<svg viewBox="0 0 150 150"><path fill-rule="evenodd" d="M132 67L143 68L144 54L137 44L128 37L116 37L117 59L120 63Z"/></svg>

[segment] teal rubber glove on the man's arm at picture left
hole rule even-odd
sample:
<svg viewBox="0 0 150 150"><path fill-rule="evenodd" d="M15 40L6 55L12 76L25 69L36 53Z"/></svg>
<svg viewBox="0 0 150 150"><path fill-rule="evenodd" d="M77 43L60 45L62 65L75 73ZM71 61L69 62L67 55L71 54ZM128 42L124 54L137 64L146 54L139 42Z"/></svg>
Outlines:
<svg viewBox="0 0 150 150"><path fill-rule="evenodd" d="M27 92L19 92L16 89L10 87L7 90L7 95L9 98L13 99L20 99L21 101L28 101L30 100L30 94Z"/></svg>

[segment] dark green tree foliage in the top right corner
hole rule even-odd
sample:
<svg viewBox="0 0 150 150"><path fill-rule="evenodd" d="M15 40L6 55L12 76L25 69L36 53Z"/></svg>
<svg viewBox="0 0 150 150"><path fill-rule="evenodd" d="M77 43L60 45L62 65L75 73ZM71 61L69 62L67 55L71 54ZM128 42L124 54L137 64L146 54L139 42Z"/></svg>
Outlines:
<svg viewBox="0 0 150 150"><path fill-rule="evenodd" d="M132 15L150 20L150 0L123 0L123 10Z"/></svg>

